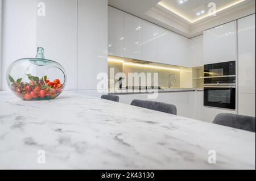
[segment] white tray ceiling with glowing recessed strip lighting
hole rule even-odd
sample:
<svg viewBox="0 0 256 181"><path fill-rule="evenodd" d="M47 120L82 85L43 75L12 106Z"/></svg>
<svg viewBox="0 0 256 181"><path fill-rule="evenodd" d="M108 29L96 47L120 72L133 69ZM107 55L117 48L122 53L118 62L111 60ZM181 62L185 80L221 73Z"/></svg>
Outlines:
<svg viewBox="0 0 256 181"><path fill-rule="evenodd" d="M110 6L158 24L186 37L255 13L255 0L108 0ZM216 16L208 16L209 2L216 4ZM204 10L204 14L197 12Z"/></svg>

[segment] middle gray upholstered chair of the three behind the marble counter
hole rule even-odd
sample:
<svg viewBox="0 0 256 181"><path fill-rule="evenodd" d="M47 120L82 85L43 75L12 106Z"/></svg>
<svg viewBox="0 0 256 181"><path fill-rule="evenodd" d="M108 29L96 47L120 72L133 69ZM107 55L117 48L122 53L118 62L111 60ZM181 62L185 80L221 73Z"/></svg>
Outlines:
<svg viewBox="0 0 256 181"><path fill-rule="evenodd" d="M165 113L170 113L172 115L177 115L177 108L172 104L148 101L148 100L133 100L131 102L132 106L143 107L149 110L155 110Z"/></svg>

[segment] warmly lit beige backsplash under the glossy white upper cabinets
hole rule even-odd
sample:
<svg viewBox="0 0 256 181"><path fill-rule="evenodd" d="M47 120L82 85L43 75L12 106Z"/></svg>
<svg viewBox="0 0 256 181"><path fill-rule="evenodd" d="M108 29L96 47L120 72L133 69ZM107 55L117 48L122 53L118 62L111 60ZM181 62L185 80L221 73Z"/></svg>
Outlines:
<svg viewBox="0 0 256 181"><path fill-rule="evenodd" d="M128 73L145 73L147 79L147 73L151 73L151 85L154 85L154 73L158 73L158 83L161 88L192 88L193 87L193 73L190 68L183 68L180 66L166 65L166 64L156 64L153 62L145 62L138 60L131 60L126 58L118 58L109 56L108 61L108 75L109 82L110 79L113 81L113 76L110 76L110 69L114 69L114 74L124 73L125 78L123 81L126 81L128 85ZM119 76L117 76L119 77ZM118 79L114 80L114 83L118 83ZM142 86L143 83L139 81L135 85L133 81L133 86ZM110 85L109 85L110 86Z"/></svg>

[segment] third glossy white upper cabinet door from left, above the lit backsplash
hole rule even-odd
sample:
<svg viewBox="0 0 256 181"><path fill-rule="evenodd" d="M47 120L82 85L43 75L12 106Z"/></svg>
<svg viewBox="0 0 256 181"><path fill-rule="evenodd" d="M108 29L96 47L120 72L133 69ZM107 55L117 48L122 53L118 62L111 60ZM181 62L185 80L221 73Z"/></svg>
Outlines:
<svg viewBox="0 0 256 181"><path fill-rule="evenodd" d="M158 59L158 28L146 21L142 22L143 60L156 61Z"/></svg>

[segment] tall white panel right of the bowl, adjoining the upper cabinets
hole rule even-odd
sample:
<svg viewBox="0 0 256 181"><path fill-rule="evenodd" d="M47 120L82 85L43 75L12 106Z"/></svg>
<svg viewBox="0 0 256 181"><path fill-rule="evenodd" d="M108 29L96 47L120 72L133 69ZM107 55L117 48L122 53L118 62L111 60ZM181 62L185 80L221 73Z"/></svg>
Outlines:
<svg viewBox="0 0 256 181"><path fill-rule="evenodd" d="M78 3L77 87L97 90L97 75L108 73L108 1ZM108 85L108 80L105 84Z"/></svg>

